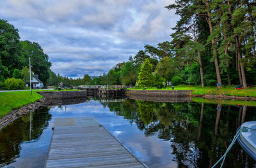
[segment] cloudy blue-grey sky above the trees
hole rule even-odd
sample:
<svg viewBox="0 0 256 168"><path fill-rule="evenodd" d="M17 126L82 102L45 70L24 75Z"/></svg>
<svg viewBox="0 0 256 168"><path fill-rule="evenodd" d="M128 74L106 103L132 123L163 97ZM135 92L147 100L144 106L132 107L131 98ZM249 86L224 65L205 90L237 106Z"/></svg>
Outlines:
<svg viewBox="0 0 256 168"><path fill-rule="evenodd" d="M35 41L62 76L99 76L144 45L171 41L173 0L1 0L0 18Z"/></svg>

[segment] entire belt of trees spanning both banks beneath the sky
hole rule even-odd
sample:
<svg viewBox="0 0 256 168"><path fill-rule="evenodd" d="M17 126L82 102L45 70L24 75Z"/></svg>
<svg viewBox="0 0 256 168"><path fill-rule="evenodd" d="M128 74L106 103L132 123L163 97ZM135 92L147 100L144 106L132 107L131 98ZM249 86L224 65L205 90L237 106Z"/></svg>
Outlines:
<svg viewBox="0 0 256 168"><path fill-rule="evenodd" d="M29 56L32 71L47 85L62 81L67 85L135 86L140 83L139 74L145 73L141 69L145 60L157 75L154 83L147 85L164 83L164 86L166 81L173 81L172 85L205 87L221 83L222 86L243 84L246 88L248 83L255 84L255 1L177 0L166 8L180 16L172 28L172 41L157 46L147 44L127 62L116 64L108 73L92 80L90 76L72 79L54 74L40 45L20 41L18 30L0 20L0 86L13 75L19 78L17 70L21 71L22 80L27 81Z"/></svg>

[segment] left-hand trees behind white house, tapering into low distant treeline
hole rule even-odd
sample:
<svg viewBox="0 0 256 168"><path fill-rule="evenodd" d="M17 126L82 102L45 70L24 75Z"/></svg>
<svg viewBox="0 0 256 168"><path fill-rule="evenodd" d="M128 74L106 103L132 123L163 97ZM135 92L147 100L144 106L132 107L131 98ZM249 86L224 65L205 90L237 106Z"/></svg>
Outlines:
<svg viewBox="0 0 256 168"><path fill-rule="evenodd" d="M60 82L77 86L91 81L88 74L77 79L56 75L51 71L51 62L42 47L36 42L20 41L18 29L0 19L0 89L22 89L24 83L29 83L29 57L31 71L38 74L44 86L56 86Z"/></svg>

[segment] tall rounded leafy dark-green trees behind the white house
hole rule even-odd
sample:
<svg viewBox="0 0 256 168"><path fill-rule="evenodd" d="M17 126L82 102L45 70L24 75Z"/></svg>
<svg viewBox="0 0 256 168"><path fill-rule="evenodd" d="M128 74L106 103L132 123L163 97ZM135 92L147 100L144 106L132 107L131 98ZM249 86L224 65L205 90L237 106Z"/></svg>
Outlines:
<svg viewBox="0 0 256 168"><path fill-rule="evenodd" d="M0 86L8 78L20 78L28 83L29 57L31 71L47 84L51 62L38 43L20 41L19 31L6 20L0 19ZM12 79L13 80L13 79ZM9 87L8 88L12 88ZM20 88L20 87L19 87Z"/></svg>

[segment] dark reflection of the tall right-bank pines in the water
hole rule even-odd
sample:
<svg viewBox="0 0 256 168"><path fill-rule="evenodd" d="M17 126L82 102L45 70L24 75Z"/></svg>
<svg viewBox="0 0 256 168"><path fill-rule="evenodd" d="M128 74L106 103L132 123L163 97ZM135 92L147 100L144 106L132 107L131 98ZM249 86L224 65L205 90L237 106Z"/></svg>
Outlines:
<svg viewBox="0 0 256 168"><path fill-rule="evenodd" d="M145 136L170 141L170 162L178 167L211 167L231 143L241 123L255 120L255 107L206 104L204 102L149 102L127 99L102 103L116 115L136 123ZM238 143L230 150L223 167L254 167Z"/></svg>

